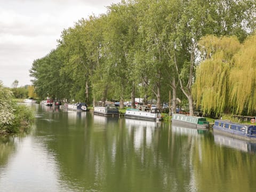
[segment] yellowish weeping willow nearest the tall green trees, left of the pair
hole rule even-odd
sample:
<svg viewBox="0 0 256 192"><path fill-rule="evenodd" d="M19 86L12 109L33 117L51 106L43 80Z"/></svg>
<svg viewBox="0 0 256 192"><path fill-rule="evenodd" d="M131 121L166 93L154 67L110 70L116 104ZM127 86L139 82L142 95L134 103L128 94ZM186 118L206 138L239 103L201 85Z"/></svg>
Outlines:
<svg viewBox="0 0 256 192"><path fill-rule="evenodd" d="M205 36L199 42L204 61L196 70L193 95L197 107L204 113L215 114L228 112L230 109L230 69L233 67L233 56L241 47L236 37L217 38Z"/></svg>

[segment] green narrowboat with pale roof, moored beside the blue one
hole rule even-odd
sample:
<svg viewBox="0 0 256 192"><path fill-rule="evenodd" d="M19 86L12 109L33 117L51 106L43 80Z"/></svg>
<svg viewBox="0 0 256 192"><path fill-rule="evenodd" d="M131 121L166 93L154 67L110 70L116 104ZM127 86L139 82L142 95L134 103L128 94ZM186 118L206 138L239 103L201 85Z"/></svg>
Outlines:
<svg viewBox="0 0 256 192"><path fill-rule="evenodd" d="M195 117L195 116L182 115L182 114L173 114L172 124L181 125L188 128L194 128L194 129L209 128L209 122L206 121L205 117Z"/></svg>

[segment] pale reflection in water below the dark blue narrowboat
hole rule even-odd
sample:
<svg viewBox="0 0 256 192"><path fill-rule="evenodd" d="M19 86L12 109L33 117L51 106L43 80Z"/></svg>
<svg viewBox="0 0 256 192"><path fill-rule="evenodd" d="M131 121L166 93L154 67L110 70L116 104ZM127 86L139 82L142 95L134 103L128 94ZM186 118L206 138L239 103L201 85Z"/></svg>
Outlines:
<svg viewBox="0 0 256 192"><path fill-rule="evenodd" d="M228 137L225 135L213 133L214 142L220 146L226 146L233 149L238 149L244 152L256 153L256 142L250 142L242 139Z"/></svg>

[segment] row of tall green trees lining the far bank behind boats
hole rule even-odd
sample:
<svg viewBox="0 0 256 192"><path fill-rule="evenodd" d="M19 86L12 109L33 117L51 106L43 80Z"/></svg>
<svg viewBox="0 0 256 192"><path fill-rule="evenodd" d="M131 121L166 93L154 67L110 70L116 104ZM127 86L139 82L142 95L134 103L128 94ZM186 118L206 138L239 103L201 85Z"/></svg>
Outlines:
<svg viewBox="0 0 256 192"><path fill-rule="evenodd" d="M94 103L143 97L186 98L193 115L192 85L199 40L235 35L239 42L255 27L253 0L137 0L108 7L62 31L56 49L33 62L30 76L44 98Z"/></svg>

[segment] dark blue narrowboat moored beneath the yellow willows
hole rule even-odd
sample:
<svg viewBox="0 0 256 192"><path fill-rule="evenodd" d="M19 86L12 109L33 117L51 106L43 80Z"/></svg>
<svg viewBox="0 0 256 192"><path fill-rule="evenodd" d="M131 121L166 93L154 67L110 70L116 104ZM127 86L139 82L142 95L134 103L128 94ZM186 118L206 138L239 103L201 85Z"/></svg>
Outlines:
<svg viewBox="0 0 256 192"><path fill-rule="evenodd" d="M256 140L256 125L245 125L228 120L215 120L213 132L221 131L232 137Z"/></svg>

